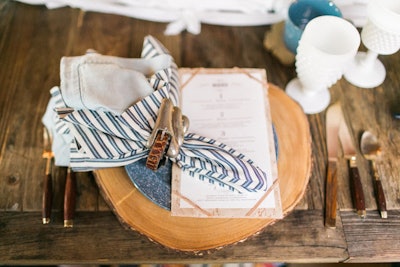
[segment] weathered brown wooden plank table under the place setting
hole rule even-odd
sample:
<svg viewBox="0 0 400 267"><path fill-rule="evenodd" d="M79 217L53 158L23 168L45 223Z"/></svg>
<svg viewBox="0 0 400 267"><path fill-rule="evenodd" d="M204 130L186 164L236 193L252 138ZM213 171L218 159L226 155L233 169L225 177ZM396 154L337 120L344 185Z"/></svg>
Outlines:
<svg viewBox="0 0 400 267"><path fill-rule="evenodd" d="M400 54L381 56L387 77L382 86L361 89L344 79L331 89L340 100L353 136L378 134L383 148L383 187L388 219L376 211L368 162L361 158L367 218L353 211L345 161L339 160L337 228L323 225L327 166L325 112L309 115L313 169L302 202L285 219L245 242L191 254L155 244L121 226L90 173L78 174L75 226L64 228L65 168L54 171L53 222L42 225L40 207L45 161L41 117L49 89L59 85L62 56L94 48L102 54L139 57L151 34L171 51L180 67L265 68L269 82L284 88L296 76L263 47L263 27L202 25L199 35L164 36L165 24L84 13L48 10L14 1L0 3L0 263L171 263L171 262L382 262L400 261ZM358 142L358 141L357 141Z"/></svg>

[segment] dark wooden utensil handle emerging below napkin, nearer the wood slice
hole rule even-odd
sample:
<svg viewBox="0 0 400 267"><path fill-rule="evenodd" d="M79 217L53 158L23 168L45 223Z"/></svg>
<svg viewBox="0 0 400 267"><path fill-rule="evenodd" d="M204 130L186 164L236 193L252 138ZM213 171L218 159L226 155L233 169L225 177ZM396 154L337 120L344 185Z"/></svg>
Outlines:
<svg viewBox="0 0 400 267"><path fill-rule="evenodd" d="M68 168L64 191L64 227L72 227L75 215L76 178L75 173Z"/></svg>

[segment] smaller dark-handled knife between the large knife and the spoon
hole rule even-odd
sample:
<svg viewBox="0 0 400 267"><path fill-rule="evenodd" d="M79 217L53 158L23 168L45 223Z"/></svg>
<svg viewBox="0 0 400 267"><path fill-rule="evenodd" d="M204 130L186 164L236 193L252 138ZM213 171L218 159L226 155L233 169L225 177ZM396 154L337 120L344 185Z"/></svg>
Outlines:
<svg viewBox="0 0 400 267"><path fill-rule="evenodd" d="M350 170L350 190L352 192L354 206L357 214L361 218L365 218L365 198L362 188L361 177L357 168L357 151L352 142L350 131L347 128L346 122L342 120L339 128L339 139L342 144L344 157L348 160Z"/></svg>

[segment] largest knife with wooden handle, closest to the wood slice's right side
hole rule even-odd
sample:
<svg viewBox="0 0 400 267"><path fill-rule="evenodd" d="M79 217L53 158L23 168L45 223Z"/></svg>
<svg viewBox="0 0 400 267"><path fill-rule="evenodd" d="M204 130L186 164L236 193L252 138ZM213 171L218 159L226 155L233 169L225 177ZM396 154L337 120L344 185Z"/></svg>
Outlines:
<svg viewBox="0 0 400 267"><path fill-rule="evenodd" d="M337 169L339 147L339 125L341 122L340 103L331 105L326 112L326 147L328 150L328 168L325 184L325 226L336 227L337 210Z"/></svg>

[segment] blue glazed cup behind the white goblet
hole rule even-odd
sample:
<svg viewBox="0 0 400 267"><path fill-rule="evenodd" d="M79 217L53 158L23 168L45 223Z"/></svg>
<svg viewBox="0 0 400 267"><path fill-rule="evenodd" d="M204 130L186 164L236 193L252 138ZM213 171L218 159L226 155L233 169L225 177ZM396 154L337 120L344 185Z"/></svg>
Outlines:
<svg viewBox="0 0 400 267"><path fill-rule="evenodd" d="M323 15L342 17L342 12L329 0L297 0L290 5L285 21L284 42L293 54L296 54L307 23Z"/></svg>

